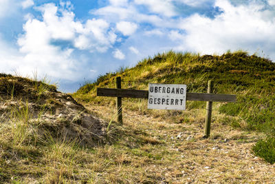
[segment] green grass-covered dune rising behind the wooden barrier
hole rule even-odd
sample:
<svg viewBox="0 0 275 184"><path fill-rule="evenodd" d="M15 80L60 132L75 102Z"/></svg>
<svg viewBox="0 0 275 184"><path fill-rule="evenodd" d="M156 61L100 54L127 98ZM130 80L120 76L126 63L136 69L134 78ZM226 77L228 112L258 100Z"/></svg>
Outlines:
<svg viewBox="0 0 275 184"><path fill-rule="evenodd" d="M224 114L221 123L265 132L270 139L275 137L275 63L256 54L237 51L221 56L200 56L189 52L165 52L144 59L133 68L99 76L96 82L83 85L74 96L80 101L113 104L113 99L96 97L96 88L115 88L116 76L122 76L122 88L138 90L147 90L148 83L185 83L188 92L206 92L208 80L213 80L214 93L237 95L236 103L215 103L214 110ZM124 99L124 103L129 104L124 108L140 110L142 106L144 113L159 113L146 110L146 102L138 107L137 101ZM188 109L204 108L201 102L186 105ZM255 146L268 142L261 141ZM254 150L258 154L257 149ZM265 158L264 154L259 155Z"/></svg>

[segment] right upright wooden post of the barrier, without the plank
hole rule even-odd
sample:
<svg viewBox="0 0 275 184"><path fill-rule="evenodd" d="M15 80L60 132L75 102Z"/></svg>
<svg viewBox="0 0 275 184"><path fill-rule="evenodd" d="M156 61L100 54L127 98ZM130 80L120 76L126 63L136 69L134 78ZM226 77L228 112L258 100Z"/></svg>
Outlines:
<svg viewBox="0 0 275 184"><path fill-rule="evenodd" d="M208 81L208 93L213 92L213 81ZM211 126L211 116L212 116L212 101L206 103L206 123L204 125L204 136L208 138L210 136L210 126Z"/></svg>

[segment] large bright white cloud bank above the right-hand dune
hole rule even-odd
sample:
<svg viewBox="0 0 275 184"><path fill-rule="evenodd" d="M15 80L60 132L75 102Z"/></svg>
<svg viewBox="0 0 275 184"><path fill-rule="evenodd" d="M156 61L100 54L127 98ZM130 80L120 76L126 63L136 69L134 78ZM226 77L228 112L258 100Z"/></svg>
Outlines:
<svg viewBox="0 0 275 184"><path fill-rule="evenodd" d="M215 6L223 13L210 19L199 14L183 19L181 29L170 32L170 38L179 39L179 48L203 54L226 50L271 50L275 44L275 19L267 19L263 5L233 6L229 1L217 0Z"/></svg>

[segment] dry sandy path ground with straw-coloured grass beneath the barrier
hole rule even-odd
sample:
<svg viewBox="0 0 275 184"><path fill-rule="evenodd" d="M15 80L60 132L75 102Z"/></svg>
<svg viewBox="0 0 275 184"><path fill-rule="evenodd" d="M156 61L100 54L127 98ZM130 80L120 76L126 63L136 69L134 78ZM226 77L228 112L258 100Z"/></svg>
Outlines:
<svg viewBox="0 0 275 184"><path fill-rule="evenodd" d="M86 108L109 118L115 113L104 106ZM123 111L123 118L124 127L144 131L147 139L159 141L159 145L139 147L152 154L162 152L161 160L140 165L142 174L154 176L159 183L275 183L275 165L252 153L252 145L264 136L259 132L244 132L213 122L210 138L203 139L201 121L171 123L163 117L130 110Z"/></svg>

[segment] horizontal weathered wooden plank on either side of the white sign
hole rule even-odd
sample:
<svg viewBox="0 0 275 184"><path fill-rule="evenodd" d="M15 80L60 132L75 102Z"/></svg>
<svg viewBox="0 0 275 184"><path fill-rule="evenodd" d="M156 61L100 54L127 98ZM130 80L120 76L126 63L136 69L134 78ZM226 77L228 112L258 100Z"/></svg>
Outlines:
<svg viewBox="0 0 275 184"><path fill-rule="evenodd" d="M148 90L125 90L113 88L98 88L97 96L113 96L148 99ZM208 94L208 93L191 93L186 94L186 101L219 101L219 102L235 102L234 94Z"/></svg>

